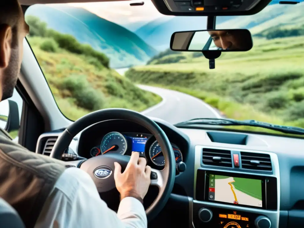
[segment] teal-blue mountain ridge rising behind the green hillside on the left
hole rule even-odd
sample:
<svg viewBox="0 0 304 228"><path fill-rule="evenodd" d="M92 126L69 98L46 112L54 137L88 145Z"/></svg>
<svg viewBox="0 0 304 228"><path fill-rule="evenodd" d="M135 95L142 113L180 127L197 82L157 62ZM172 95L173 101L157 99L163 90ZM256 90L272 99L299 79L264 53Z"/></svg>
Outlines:
<svg viewBox="0 0 304 228"><path fill-rule="evenodd" d="M83 8L33 5L26 15L37 16L47 22L49 28L70 34L80 43L103 52L110 58L110 67L113 68L142 65L158 53L135 33Z"/></svg>

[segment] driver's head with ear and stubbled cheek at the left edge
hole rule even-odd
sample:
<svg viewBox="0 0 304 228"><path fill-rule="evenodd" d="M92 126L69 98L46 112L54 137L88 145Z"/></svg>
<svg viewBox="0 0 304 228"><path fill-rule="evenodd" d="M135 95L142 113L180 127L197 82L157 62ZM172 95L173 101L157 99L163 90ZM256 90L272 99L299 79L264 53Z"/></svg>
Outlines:
<svg viewBox="0 0 304 228"><path fill-rule="evenodd" d="M29 32L17 0L0 1L0 101L12 96Z"/></svg>

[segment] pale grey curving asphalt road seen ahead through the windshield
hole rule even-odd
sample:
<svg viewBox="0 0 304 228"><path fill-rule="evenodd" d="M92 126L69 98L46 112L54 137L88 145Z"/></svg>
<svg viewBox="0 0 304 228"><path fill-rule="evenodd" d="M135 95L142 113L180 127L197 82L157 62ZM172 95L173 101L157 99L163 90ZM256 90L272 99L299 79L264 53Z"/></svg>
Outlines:
<svg viewBox="0 0 304 228"><path fill-rule="evenodd" d="M188 94L147 85L138 87L163 98L162 102L142 112L147 116L164 119L171 124L194 118L222 118L216 109Z"/></svg>

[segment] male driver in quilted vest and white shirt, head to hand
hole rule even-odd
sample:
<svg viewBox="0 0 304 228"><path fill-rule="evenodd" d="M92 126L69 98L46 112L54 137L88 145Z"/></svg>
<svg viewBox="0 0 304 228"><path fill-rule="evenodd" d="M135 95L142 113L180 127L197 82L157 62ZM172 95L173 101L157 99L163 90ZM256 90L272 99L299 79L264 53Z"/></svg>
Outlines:
<svg viewBox="0 0 304 228"><path fill-rule="evenodd" d="M12 96L28 32L18 1L0 1L0 101ZM0 136L0 169L0 197L16 209L26 227L147 227L143 198L151 168L137 152L123 173L115 163L121 196L117 213L100 199L86 172L30 152L4 136Z"/></svg>

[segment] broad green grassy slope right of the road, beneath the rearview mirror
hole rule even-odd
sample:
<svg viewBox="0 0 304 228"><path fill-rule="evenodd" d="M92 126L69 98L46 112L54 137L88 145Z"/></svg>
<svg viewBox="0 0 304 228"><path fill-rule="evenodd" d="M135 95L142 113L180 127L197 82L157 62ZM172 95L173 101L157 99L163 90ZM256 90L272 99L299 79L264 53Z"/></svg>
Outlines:
<svg viewBox="0 0 304 228"><path fill-rule="evenodd" d="M212 70L204 57L192 58L192 53L183 53L187 58L179 63L135 67L126 76L142 84L198 97L228 118L304 127L303 119L291 121L286 114L290 106L304 99L300 94L294 100L294 93L304 89L303 39L254 39L254 49L222 53ZM282 107L270 109L268 96L277 95L275 92L286 101L281 102ZM237 128L273 132L247 126Z"/></svg>

